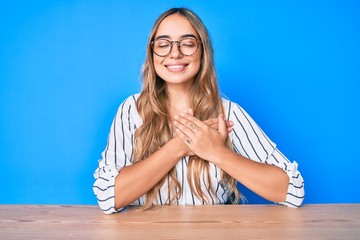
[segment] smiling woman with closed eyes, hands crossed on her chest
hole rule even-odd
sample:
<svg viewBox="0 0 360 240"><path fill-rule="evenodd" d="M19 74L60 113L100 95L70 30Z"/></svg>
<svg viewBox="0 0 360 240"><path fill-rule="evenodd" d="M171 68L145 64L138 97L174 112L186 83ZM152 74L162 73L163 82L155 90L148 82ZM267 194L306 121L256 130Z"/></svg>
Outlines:
<svg viewBox="0 0 360 240"><path fill-rule="evenodd" d="M185 8L163 13L149 36L143 90L115 116L95 171L100 208L223 204L258 195L300 206L304 184L250 116L219 96L211 42Z"/></svg>

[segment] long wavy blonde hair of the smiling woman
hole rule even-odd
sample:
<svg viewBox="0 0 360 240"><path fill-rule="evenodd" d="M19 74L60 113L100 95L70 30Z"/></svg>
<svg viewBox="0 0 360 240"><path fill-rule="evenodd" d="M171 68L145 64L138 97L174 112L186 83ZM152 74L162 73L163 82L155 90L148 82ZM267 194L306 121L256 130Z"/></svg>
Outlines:
<svg viewBox="0 0 360 240"><path fill-rule="evenodd" d="M148 39L146 60L141 73L143 89L136 102L136 107L143 120L143 124L135 132L134 163L149 157L173 137L168 116L166 84L155 72L150 42L154 40L162 20L175 13L183 15L189 20L202 42L201 66L189 94L191 96L189 104L194 110L194 116L200 120L207 120L217 117L219 113L223 112L214 67L213 49L206 27L200 18L189 9L169 9L155 21ZM227 145L230 146L229 143ZM209 162L197 156L191 156L187 173L191 191L197 198L209 203L209 199L200 186L199 179L201 179L200 176L202 174L205 176L204 180L206 181L206 186L208 186L207 190L211 195L215 195L214 189L211 188ZM179 199L181 185L176 177L176 169L174 167L159 183L146 193L144 209L152 206L153 200L157 199L157 193L166 180L169 181L169 198L166 204L174 203ZM230 196L232 202L238 202L240 193L236 187L236 181L223 171L222 183L230 189L229 193L234 194L235 198Z"/></svg>

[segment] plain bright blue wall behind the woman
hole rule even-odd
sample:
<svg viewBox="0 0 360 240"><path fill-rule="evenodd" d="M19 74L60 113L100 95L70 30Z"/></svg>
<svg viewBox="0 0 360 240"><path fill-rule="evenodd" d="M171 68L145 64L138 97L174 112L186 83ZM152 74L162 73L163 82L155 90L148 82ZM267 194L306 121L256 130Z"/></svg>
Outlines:
<svg viewBox="0 0 360 240"><path fill-rule="evenodd" d="M360 3L331 0L1 1L0 203L96 203L117 107L179 6L207 25L224 95L299 163L305 203L359 203Z"/></svg>

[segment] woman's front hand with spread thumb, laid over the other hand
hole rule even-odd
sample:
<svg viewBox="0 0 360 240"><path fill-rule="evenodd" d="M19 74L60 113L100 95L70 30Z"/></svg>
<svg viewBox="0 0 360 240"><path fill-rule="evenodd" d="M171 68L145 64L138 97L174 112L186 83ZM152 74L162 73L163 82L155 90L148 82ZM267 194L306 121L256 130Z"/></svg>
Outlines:
<svg viewBox="0 0 360 240"><path fill-rule="evenodd" d="M202 159L212 161L217 151L225 147L228 127L223 114L218 116L218 130L188 113L175 116L174 126L181 140Z"/></svg>

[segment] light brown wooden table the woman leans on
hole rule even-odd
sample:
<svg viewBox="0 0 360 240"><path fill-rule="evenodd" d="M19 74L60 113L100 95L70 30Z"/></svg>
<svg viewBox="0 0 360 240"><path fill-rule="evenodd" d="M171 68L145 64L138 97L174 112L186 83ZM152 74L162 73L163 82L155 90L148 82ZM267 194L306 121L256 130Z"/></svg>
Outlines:
<svg viewBox="0 0 360 240"><path fill-rule="evenodd" d="M97 206L0 205L0 239L360 239L360 204L161 206L112 215Z"/></svg>

